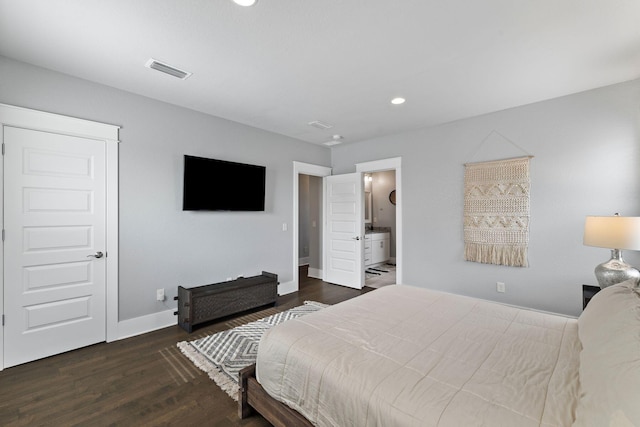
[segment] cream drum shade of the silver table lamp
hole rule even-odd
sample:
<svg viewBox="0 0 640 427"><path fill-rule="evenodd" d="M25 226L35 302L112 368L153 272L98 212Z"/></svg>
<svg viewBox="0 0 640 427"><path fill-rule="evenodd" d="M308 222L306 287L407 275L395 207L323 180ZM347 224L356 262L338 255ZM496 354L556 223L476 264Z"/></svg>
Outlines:
<svg viewBox="0 0 640 427"><path fill-rule="evenodd" d="M587 246L640 250L640 217L588 216L584 223Z"/></svg>

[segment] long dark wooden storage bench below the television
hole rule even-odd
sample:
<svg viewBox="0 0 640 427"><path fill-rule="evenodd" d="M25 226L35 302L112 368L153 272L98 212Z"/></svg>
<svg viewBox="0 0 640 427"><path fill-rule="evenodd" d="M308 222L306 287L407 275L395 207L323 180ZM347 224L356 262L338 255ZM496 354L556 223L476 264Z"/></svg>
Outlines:
<svg viewBox="0 0 640 427"><path fill-rule="evenodd" d="M275 304L277 298L278 275L266 271L194 288L178 286L178 325L190 333L198 324Z"/></svg>

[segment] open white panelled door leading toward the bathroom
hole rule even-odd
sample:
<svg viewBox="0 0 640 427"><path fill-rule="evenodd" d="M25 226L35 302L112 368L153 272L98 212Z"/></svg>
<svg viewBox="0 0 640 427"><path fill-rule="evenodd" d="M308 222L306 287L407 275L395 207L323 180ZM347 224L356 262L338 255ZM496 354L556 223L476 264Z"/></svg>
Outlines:
<svg viewBox="0 0 640 427"><path fill-rule="evenodd" d="M326 227L324 281L364 286L363 181L360 172L324 178Z"/></svg>

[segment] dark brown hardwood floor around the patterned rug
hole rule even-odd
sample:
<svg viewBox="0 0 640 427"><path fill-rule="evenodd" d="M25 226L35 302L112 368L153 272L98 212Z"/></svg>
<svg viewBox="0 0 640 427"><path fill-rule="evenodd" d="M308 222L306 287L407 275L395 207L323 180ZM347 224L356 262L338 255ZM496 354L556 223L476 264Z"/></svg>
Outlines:
<svg viewBox="0 0 640 427"><path fill-rule="evenodd" d="M223 319L188 334L178 326L101 343L0 372L1 426L268 426L240 420L237 403L176 347L302 304L336 304L372 290L350 289L301 274L300 291L276 307Z"/></svg>

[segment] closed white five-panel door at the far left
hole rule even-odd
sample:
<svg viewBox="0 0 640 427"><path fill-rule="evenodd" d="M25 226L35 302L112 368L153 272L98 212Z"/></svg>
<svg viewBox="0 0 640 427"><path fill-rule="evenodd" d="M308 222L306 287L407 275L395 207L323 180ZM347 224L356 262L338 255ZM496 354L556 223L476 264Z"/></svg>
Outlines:
<svg viewBox="0 0 640 427"><path fill-rule="evenodd" d="M105 144L4 127L4 366L105 341Z"/></svg>

